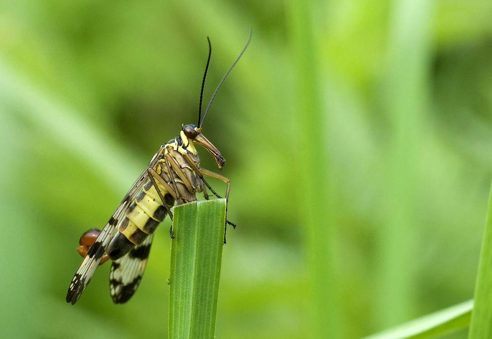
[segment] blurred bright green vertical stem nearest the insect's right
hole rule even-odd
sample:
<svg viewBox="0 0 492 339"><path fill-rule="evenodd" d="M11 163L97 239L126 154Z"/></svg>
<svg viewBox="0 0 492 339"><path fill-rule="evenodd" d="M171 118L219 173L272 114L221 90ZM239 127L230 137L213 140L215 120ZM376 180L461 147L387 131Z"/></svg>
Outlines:
<svg viewBox="0 0 492 339"><path fill-rule="evenodd" d="M312 15L316 1L290 2L290 30L296 69L294 103L297 126L299 170L297 192L301 211L301 233L305 235L310 298L307 338L338 336L338 279L333 259L333 203L329 180L327 116L324 113L319 81L319 63Z"/></svg>

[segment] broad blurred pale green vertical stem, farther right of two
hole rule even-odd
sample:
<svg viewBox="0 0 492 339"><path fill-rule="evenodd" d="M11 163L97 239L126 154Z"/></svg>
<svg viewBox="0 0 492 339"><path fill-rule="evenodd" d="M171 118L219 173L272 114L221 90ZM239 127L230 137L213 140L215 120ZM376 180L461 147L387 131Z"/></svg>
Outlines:
<svg viewBox="0 0 492 339"><path fill-rule="evenodd" d="M426 0L393 2L387 41L382 102L389 119L385 225L379 229L376 302L383 328L411 318L416 304L414 280L418 255L416 202L419 201L418 156L422 147L430 67L432 5ZM412 23L418 22L419 25Z"/></svg>

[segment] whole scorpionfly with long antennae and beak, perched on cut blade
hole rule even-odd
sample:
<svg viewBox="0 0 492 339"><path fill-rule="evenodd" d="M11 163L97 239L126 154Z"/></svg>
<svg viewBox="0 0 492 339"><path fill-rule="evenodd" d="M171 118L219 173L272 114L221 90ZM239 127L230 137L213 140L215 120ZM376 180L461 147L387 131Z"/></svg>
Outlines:
<svg viewBox="0 0 492 339"><path fill-rule="evenodd" d="M203 89L212 53L208 37L207 40L209 56L200 91L198 125L184 125L179 136L160 147L102 231L91 229L82 235L78 251L84 259L68 287L67 303L73 305L79 300L97 266L108 259L113 260L109 277L111 297L117 304L128 301L138 288L144 274L154 231L166 215L172 219L171 208L175 202L181 205L195 201L196 193L200 192L203 192L205 199L208 200L210 197L207 188L215 197L220 198L204 176L226 183L226 201L229 198L229 179L200 167L195 145L200 145L209 151L215 158L218 168L222 169L225 159L201 133L202 125L220 86L245 52L251 40L251 32L238 58L219 82L203 119L200 120ZM226 221L227 223L235 227L233 223ZM169 232L171 238L174 238L172 226Z"/></svg>

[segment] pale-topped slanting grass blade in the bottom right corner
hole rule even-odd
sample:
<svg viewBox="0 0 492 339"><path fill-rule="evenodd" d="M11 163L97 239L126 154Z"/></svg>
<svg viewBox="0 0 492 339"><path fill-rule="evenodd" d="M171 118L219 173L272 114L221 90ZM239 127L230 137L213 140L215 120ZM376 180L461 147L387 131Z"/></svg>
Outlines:
<svg viewBox="0 0 492 339"><path fill-rule="evenodd" d="M467 326L472 308L473 301L469 300L363 339L435 338Z"/></svg>

